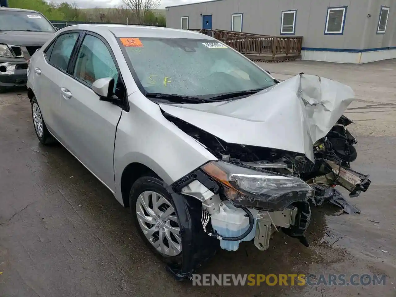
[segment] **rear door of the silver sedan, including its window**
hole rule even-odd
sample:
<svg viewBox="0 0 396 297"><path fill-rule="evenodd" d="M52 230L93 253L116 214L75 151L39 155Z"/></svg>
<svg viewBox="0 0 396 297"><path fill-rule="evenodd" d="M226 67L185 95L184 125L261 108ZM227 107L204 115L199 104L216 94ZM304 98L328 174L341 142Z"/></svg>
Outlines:
<svg viewBox="0 0 396 297"><path fill-rule="evenodd" d="M61 85L67 76L67 67L80 31L69 31L59 35L39 55L31 75L34 75L33 89L38 105L49 131L59 139L62 124L59 122ZM62 141L62 139L59 139Z"/></svg>

